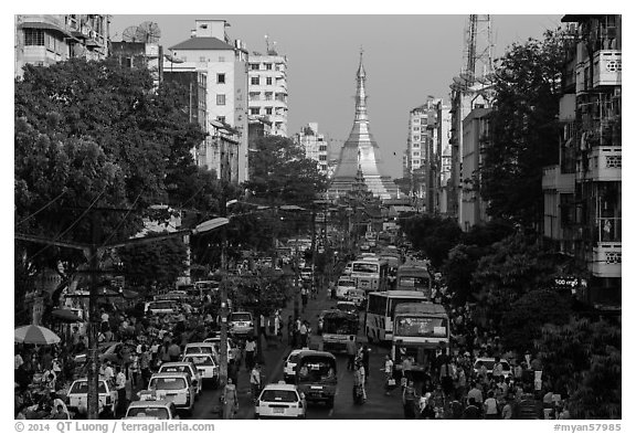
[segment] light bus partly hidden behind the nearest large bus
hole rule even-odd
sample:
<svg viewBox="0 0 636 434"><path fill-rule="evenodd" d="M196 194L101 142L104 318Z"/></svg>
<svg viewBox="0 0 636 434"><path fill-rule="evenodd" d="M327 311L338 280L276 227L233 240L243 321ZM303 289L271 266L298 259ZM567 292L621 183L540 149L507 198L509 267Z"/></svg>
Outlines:
<svg viewBox="0 0 636 434"><path fill-rule="evenodd" d="M384 290L369 293L364 314L364 332L369 342L392 341L395 306L421 303L428 298L416 290Z"/></svg>

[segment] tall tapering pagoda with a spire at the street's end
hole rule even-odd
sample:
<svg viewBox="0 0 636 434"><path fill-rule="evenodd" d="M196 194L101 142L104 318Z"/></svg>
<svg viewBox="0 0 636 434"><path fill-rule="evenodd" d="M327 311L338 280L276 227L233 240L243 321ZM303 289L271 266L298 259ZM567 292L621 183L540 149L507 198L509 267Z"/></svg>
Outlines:
<svg viewBox="0 0 636 434"><path fill-rule="evenodd" d="M367 73L362 66L362 51L360 51L360 66L358 67L356 93L356 118L349 138L340 150L338 166L329 187L329 197L344 197L353 190L359 180L358 170L364 179L369 191L380 199L391 199L398 195L398 186L391 177L380 170L380 147L373 139L369 129L369 116L367 115L367 92L364 82Z"/></svg>

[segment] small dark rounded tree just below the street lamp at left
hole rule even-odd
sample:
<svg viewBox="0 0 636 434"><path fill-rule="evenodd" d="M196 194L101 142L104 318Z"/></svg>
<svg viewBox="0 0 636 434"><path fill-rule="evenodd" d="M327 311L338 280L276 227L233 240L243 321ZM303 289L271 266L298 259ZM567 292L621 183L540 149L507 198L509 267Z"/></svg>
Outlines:
<svg viewBox="0 0 636 434"><path fill-rule="evenodd" d="M121 247L117 255L127 285L132 287L170 287L187 268L187 247L180 237Z"/></svg>

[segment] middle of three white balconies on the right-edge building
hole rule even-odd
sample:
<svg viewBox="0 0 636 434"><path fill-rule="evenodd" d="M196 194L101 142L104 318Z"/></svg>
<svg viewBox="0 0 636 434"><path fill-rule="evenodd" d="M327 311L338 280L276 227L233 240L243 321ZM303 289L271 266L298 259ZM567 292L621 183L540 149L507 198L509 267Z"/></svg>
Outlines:
<svg viewBox="0 0 636 434"><path fill-rule="evenodd" d="M619 146L594 147L576 162L576 178L600 182L621 181L622 166Z"/></svg>

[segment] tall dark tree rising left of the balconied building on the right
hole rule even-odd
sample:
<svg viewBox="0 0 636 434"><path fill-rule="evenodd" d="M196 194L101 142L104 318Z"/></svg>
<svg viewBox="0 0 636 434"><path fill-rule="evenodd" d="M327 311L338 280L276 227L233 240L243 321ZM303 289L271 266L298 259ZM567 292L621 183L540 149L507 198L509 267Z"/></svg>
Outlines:
<svg viewBox="0 0 636 434"><path fill-rule="evenodd" d="M559 162L561 33L512 44L494 78L489 146L474 182L489 215L537 230L543 214L542 168Z"/></svg>

